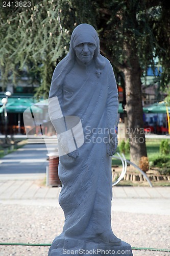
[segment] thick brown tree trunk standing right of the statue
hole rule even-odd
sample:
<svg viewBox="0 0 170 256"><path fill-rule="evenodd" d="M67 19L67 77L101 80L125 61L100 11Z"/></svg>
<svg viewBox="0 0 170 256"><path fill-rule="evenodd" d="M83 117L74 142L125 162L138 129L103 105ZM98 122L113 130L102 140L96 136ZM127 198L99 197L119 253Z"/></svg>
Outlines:
<svg viewBox="0 0 170 256"><path fill-rule="evenodd" d="M128 116L127 134L130 141L130 158L139 164L141 157L147 156L143 129L143 110L141 96L140 66L135 42L125 46L127 63L124 69L126 88L126 111Z"/></svg>

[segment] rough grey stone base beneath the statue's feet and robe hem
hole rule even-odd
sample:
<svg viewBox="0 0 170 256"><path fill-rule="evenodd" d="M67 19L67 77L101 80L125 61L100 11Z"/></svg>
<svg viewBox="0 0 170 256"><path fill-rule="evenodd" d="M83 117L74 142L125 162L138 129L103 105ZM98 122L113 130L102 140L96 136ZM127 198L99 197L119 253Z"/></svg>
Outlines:
<svg viewBox="0 0 170 256"><path fill-rule="evenodd" d="M72 238L59 238L57 237L48 252L48 256L133 256L132 247L126 242L121 242L120 245L111 245L106 243L95 243L84 240L77 240Z"/></svg>

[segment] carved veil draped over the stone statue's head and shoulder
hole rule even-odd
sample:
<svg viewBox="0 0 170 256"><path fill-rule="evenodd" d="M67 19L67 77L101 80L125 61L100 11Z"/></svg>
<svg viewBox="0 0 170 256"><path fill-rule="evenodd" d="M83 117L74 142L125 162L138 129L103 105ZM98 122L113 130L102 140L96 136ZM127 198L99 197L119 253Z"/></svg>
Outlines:
<svg viewBox="0 0 170 256"><path fill-rule="evenodd" d="M96 46L94 51L95 72L98 73L105 67L105 57L100 54L100 40L98 33L89 24L78 25L71 35L69 53L60 61L54 71L50 88L50 98L55 96L56 88L62 85L66 74L68 74L74 67L76 56L74 48L82 42L92 42Z"/></svg>

